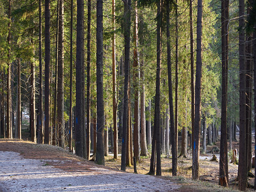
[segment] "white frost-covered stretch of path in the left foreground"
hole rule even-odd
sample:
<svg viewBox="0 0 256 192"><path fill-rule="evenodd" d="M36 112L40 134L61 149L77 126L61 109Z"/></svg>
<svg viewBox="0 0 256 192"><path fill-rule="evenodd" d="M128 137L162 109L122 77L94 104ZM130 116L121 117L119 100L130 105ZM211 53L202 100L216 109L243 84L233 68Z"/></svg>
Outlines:
<svg viewBox="0 0 256 192"><path fill-rule="evenodd" d="M84 172L65 172L45 163L49 161L24 159L16 152L0 151L0 191L175 191L179 188L169 180L96 166Z"/></svg>

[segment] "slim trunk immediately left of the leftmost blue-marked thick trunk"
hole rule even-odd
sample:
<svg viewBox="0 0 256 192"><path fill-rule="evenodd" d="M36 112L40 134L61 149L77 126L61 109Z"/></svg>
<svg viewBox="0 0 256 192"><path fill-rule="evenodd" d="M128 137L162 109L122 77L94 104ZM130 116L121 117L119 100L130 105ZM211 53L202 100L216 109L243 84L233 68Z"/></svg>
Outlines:
<svg viewBox="0 0 256 192"><path fill-rule="evenodd" d="M73 0L71 0L71 18L70 18L70 83L69 83L69 137L68 146L72 151L73 140Z"/></svg>

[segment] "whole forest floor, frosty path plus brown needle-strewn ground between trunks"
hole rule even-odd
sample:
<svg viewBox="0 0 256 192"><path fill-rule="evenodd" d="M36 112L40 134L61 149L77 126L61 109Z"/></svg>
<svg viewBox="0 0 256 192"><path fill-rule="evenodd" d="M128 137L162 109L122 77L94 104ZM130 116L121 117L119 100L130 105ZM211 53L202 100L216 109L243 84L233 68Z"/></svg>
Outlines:
<svg viewBox="0 0 256 192"><path fill-rule="evenodd" d="M206 159L207 158L207 159ZM120 157L106 157L106 166L85 161L60 147L0 139L0 191L236 191L237 165L228 164L230 188L218 186L219 163L200 160L200 180L191 180L191 159L179 159L178 176L171 177L172 159L162 158L162 175L148 173L150 157L120 171Z"/></svg>

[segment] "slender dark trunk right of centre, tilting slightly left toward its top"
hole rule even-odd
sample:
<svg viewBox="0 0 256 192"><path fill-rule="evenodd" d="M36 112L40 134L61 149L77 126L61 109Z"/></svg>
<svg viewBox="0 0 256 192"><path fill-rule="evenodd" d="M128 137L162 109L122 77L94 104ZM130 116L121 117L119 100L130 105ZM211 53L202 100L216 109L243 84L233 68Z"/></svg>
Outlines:
<svg viewBox="0 0 256 192"><path fill-rule="evenodd" d="M177 143L173 115L173 93L172 93L172 67L171 67L171 46L170 46L170 1L166 3L166 33L167 33L167 67L168 67L168 89L170 106L170 140L172 143L172 175L177 175Z"/></svg>

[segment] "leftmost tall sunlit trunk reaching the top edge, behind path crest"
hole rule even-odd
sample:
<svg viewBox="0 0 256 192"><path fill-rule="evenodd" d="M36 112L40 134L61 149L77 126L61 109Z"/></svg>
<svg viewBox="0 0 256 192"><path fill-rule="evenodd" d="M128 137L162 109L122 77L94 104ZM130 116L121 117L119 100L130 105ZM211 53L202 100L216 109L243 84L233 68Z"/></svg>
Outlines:
<svg viewBox="0 0 256 192"><path fill-rule="evenodd" d="M8 4L8 77L7 77L7 138L12 139L12 62L11 62L11 0Z"/></svg>

